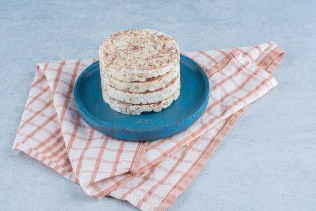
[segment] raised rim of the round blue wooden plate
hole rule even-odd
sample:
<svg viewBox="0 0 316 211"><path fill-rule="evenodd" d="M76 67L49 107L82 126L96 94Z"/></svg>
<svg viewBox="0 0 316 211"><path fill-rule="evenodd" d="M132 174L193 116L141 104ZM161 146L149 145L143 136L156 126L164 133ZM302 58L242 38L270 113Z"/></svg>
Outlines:
<svg viewBox="0 0 316 211"><path fill-rule="evenodd" d="M108 130L116 130L116 131L123 131L123 132L133 132L133 133L144 133L144 132L157 132L157 131L161 131L162 129L166 129L166 128L173 128L175 125L180 125L182 122L187 121L188 119L192 118L192 116L195 116L196 113L198 113L200 111L201 108L207 107L204 106L206 102L208 102L208 97L209 97L209 82L208 82L208 78L207 75L205 73L205 71L202 69L202 67L197 64L194 60L190 59L189 57L180 54L180 59L181 57L187 61L189 61L191 64L193 64L198 70L199 73L202 75L202 79L203 79L203 83L204 83L204 87L206 92L204 92L203 98L202 98L202 103L200 105L200 107L198 109L196 109L191 115L187 116L186 118L181 119L180 121L175 121L172 122L170 125L166 126L161 126L159 128L155 128L155 129L128 129L128 128L124 128L122 126L118 126L118 125L113 125L113 124L109 124L108 122L104 122L101 119L97 118L94 115L91 115L91 113L89 113L84 106L82 105L82 103L79 100L79 89L78 86L80 85L80 82L82 81L82 78L89 73L90 69L99 62L99 60L93 62L92 64L90 64L88 67L86 67L86 69L84 69L82 71L82 73L79 75L79 77L77 78L76 82L75 82L75 86L74 86L74 99L75 99L75 103L76 103L76 107L78 109L78 113L80 115L80 113L84 114L86 117L88 117L90 120L96 122L99 125L102 125L103 128L107 128ZM204 112L204 111L203 111ZM125 114L128 115L128 114ZM202 114L201 114L202 115ZM80 115L80 117L82 118L82 116ZM200 116L199 116L200 117ZM199 118L198 117L198 118ZM197 118L197 119L198 119ZM84 121L85 119L82 118ZM196 120L197 120L196 119ZM86 122L86 121L85 121ZM195 121L194 121L195 122ZM193 123L194 123L193 122ZM87 123L87 122L86 122ZM192 123L192 124L193 124ZM90 125L90 124L89 124ZM91 125L90 125L91 126ZM91 127L92 128L92 127ZM94 130L97 130L95 128L93 128ZM185 130L185 129L184 129ZM98 130L97 130L98 131ZM101 132L102 133L102 132Z"/></svg>

